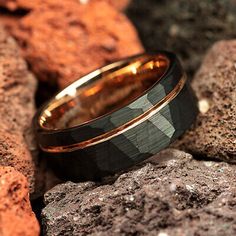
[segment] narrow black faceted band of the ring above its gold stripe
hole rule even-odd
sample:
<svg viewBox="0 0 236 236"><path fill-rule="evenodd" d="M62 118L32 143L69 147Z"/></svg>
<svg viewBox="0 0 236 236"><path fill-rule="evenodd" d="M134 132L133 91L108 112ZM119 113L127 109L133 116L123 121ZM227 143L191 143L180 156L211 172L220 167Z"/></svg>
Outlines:
<svg viewBox="0 0 236 236"><path fill-rule="evenodd" d="M128 106L101 117L101 119L63 131L48 131L42 129L38 123L38 117L44 109L44 107L42 107L34 118L34 126L40 145L42 147L71 145L76 142L94 138L141 115L145 110L148 110L151 106L159 102L176 86L183 75L183 70L174 54L169 52L157 53L164 54L170 60L170 68L163 78L154 87L148 90L145 95L139 97Z"/></svg>

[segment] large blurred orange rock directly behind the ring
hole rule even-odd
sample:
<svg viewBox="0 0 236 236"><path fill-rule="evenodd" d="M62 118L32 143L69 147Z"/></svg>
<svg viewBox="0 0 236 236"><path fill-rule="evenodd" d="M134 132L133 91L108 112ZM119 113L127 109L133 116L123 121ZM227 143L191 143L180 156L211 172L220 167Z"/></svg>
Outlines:
<svg viewBox="0 0 236 236"><path fill-rule="evenodd" d="M129 20L103 1L42 6L20 20L14 35L37 77L60 88L143 50Z"/></svg>

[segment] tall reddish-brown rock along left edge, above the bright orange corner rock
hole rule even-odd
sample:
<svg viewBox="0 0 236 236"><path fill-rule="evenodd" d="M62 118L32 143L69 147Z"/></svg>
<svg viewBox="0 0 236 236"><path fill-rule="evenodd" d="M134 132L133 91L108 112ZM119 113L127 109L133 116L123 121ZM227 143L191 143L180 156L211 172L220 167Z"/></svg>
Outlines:
<svg viewBox="0 0 236 236"><path fill-rule="evenodd" d="M16 42L0 27L0 165L13 166L34 188L35 165L29 149L36 80L20 56Z"/></svg>

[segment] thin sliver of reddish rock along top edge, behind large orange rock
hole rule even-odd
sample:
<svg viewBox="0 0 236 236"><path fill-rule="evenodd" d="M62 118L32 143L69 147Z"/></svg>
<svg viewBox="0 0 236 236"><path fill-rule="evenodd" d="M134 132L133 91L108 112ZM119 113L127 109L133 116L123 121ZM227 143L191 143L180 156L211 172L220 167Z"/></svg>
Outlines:
<svg viewBox="0 0 236 236"><path fill-rule="evenodd" d="M66 0L66 1L58 1L58 0L0 0L0 6L5 7L9 11L16 10L34 10L40 8L42 5L60 5L65 4L65 2L75 2L77 4L88 4L90 2L108 2L112 6L116 7L119 10L125 9L131 0ZM64 2L64 3L63 3Z"/></svg>

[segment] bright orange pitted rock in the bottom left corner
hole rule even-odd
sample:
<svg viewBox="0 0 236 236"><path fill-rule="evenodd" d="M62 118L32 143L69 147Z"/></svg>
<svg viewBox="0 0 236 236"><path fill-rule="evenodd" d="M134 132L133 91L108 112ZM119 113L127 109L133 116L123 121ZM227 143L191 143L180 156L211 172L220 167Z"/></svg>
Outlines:
<svg viewBox="0 0 236 236"><path fill-rule="evenodd" d="M39 224L29 202L27 180L12 167L0 166L0 235L39 235Z"/></svg>

